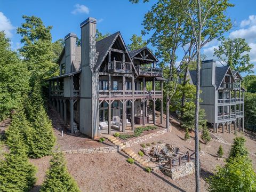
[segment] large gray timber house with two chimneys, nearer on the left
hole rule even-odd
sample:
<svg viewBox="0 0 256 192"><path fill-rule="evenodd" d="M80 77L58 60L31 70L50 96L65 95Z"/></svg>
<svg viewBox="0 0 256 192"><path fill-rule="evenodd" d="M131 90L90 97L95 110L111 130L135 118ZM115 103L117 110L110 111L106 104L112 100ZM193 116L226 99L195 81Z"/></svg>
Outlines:
<svg viewBox="0 0 256 192"><path fill-rule="evenodd" d="M96 41L96 23L94 18L81 23L82 46L75 34L65 37L60 74L48 79L52 105L72 133L91 138L104 131L134 131L135 124L149 122L149 115L156 124L157 100L162 124L164 78L157 58L147 47L129 52L119 31Z"/></svg>

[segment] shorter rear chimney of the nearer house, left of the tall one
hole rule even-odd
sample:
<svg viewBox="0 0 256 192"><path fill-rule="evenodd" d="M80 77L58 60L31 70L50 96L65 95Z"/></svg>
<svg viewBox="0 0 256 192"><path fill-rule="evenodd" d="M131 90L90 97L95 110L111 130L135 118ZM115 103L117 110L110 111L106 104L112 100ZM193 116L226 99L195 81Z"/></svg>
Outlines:
<svg viewBox="0 0 256 192"><path fill-rule="evenodd" d="M75 60L76 34L69 33L65 36L65 73L71 72L71 63Z"/></svg>

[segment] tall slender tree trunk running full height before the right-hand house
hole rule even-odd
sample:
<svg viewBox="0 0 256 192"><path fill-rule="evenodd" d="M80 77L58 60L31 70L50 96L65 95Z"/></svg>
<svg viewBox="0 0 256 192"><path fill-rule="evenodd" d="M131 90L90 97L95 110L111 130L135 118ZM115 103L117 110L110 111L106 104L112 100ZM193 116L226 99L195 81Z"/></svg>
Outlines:
<svg viewBox="0 0 256 192"><path fill-rule="evenodd" d="M200 96L200 62L201 62L201 2L197 0L198 5L198 36L196 42L196 109L195 109L195 171L196 171L196 192L200 191L200 165L199 165L199 96Z"/></svg>

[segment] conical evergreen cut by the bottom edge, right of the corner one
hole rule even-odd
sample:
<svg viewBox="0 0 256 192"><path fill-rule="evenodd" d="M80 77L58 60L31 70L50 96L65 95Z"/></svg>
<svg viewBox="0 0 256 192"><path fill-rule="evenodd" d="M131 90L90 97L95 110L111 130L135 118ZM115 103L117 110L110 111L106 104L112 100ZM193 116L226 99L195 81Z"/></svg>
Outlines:
<svg viewBox="0 0 256 192"><path fill-rule="evenodd" d="M65 157L62 152L53 153L50 167L40 189L42 192L80 191L75 180L68 173Z"/></svg>

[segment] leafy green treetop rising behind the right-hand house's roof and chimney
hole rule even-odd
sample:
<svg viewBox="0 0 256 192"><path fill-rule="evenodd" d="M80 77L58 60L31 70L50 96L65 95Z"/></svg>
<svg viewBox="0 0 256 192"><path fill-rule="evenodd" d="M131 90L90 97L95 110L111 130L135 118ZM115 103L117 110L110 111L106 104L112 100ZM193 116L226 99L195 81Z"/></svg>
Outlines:
<svg viewBox="0 0 256 192"><path fill-rule="evenodd" d="M249 52L251 47L243 38L228 38L221 42L218 49L214 49L221 63L226 63L232 70L237 70L239 73L253 73L253 63L250 63ZM222 57L222 56L225 57Z"/></svg>

